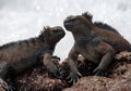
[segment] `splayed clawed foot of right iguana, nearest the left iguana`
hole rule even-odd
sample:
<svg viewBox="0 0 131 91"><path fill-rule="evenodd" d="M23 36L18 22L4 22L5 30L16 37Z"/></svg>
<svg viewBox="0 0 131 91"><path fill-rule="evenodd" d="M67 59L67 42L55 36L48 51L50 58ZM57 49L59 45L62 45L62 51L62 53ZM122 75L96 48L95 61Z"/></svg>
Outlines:
<svg viewBox="0 0 131 91"><path fill-rule="evenodd" d="M79 72L61 72L62 78L66 79L69 83L75 83L82 75Z"/></svg>

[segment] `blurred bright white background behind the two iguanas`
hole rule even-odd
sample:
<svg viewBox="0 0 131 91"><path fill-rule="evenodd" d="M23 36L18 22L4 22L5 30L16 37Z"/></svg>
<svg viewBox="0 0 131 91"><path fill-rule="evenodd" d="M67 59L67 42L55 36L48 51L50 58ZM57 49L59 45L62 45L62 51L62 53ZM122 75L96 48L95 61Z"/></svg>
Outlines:
<svg viewBox="0 0 131 91"><path fill-rule="evenodd" d="M68 15L86 11L131 42L131 0L0 0L0 46L37 37L44 26L63 26ZM55 55L64 60L73 42L67 31Z"/></svg>

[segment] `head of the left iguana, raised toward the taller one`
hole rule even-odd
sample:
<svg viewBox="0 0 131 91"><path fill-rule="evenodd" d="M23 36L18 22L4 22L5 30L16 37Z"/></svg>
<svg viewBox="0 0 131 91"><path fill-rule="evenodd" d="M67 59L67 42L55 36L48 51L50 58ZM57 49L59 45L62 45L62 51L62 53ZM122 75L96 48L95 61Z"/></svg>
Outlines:
<svg viewBox="0 0 131 91"><path fill-rule="evenodd" d="M61 38L66 35L64 30L60 26L55 27L44 27L41 30L39 38L45 42L56 44Z"/></svg>

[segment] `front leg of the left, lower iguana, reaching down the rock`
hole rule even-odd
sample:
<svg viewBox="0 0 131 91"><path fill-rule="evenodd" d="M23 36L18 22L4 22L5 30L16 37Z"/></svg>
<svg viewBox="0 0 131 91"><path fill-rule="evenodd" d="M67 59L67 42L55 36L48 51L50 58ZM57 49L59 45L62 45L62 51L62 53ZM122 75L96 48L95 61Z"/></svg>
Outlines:
<svg viewBox="0 0 131 91"><path fill-rule="evenodd" d="M58 68L52 63L51 58L52 58L52 55L50 53L45 53L44 58L43 58L44 65L46 66L47 70L51 73L55 77L61 78L61 75Z"/></svg>

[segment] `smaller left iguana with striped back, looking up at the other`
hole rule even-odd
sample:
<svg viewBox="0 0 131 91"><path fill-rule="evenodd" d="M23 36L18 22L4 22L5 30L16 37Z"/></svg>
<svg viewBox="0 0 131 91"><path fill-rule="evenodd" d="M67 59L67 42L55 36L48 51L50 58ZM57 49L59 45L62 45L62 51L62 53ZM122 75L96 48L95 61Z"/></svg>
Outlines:
<svg viewBox="0 0 131 91"><path fill-rule="evenodd" d="M0 47L0 82L8 91L13 91L4 81L7 76L15 76L38 64L44 64L49 73L61 78L51 62L56 44L66 35L60 26L44 27L36 38L11 42Z"/></svg>

